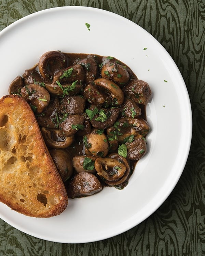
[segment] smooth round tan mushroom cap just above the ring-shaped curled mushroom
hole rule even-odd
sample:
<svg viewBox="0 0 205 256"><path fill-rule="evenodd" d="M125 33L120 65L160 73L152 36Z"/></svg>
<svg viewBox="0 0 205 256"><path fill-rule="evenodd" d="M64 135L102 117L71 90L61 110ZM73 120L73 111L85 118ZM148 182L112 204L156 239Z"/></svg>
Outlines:
<svg viewBox="0 0 205 256"><path fill-rule="evenodd" d="M102 130L93 129L90 134L83 137L83 142L86 154L98 157L105 157L108 154L108 141Z"/></svg>

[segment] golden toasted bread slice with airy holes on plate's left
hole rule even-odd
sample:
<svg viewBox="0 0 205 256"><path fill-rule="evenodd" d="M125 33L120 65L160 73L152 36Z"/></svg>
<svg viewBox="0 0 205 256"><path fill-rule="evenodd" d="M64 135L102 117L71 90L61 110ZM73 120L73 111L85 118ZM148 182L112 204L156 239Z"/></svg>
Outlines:
<svg viewBox="0 0 205 256"><path fill-rule="evenodd" d="M65 210L65 186L28 103L17 95L0 99L0 201L32 217Z"/></svg>

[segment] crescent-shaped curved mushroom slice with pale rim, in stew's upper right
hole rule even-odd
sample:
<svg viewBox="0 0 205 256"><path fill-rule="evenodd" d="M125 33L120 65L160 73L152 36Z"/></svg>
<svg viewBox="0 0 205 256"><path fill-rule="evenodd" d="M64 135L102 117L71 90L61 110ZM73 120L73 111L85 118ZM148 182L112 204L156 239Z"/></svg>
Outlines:
<svg viewBox="0 0 205 256"><path fill-rule="evenodd" d="M124 94L120 87L107 78L98 78L94 81L101 90L105 90L112 99L112 105L121 105L124 101Z"/></svg>

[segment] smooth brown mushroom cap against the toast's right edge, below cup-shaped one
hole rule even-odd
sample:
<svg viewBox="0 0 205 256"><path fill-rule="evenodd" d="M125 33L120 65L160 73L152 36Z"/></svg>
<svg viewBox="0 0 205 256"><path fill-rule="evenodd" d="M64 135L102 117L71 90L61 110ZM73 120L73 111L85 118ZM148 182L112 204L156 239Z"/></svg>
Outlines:
<svg viewBox="0 0 205 256"><path fill-rule="evenodd" d="M51 149L50 154L63 182L67 181L73 173L71 156L63 149Z"/></svg>

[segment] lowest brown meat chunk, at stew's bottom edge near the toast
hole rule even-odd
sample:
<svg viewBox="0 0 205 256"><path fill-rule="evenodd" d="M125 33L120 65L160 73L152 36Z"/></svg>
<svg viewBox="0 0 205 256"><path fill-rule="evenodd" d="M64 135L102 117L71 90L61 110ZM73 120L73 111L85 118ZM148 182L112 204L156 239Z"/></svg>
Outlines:
<svg viewBox="0 0 205 256"><path fill-rule="evenodd" d="M78 173L67 187L69 198L91 196L102 190L102 185L97 177L88 172Z"/></svg>

